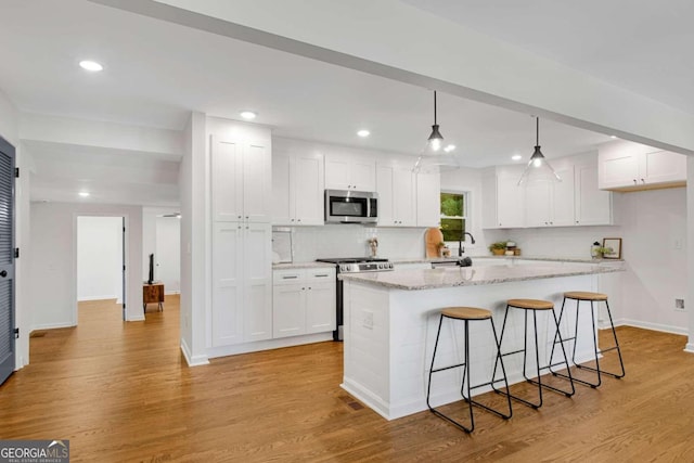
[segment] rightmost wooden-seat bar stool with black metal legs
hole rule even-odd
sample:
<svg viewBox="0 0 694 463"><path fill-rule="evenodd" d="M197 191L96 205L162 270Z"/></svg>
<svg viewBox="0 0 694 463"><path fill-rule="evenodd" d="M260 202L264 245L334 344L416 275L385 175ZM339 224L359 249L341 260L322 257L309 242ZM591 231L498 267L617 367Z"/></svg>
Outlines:
<svg viewBox="0 0 694 463"><path fill-rule="evenodd" d="M574 377L574 381L577 381L581 384L584 384L586 386L590 386L592 388L595 388L597 386L600 386L602 384L602 374L606 374L613 377L616 377L617 380L622 378L626 374L625 372L625 363L621 360L621 349L619 348L619 342L617 340L617 333L615 332L615 324L612 320L612 312L609 310L609 304L607 303L607 295L606 294L602 294L602 293L591 293L591 292L586 292L586 291L569 291L564 293L564 300L562 301L562 310L560 311L560 323L562 322L562 317L564 316L564 306L566 305L566 299L570 299L570 300L576 300L576 331L574 332L574 337L567 337L564 340L561 340L561 338L557 340L556 337L554 337L554 345L552 346L552 351L554 351L554 346L558 343L566 343L568 340L574 340L574 350L571 352L571 362L576 365L577 369L581 369L581 370L590 370L592 372L595 372L597 374L597 382L595 383L591 383L589 381L583 381L583 380L578 380L576 377ZM592 366L586 366L586 365L581 365L579 363L576 362L576 339L578 337L578 314L580 312L580 303L581 301L589 301L590 303L590 316L591 316L591 320L593 322L593 350L595 352L595 368ZM605 307L607 308L607 316L609 317L609 327L612 329L612 335L615 339L615 346L614 347L609 347L607 349L603 349L603 350L599 350L597 349L597 337L595 335L595 310L594 310L594 306L593 303L601 303L604 301L605 303ZM558 332L557 332L558 333ZM619 365L621 368L621 373L612 373L612 372L607 372L604 371L600 368L600 356L603 355L604 352L608 352L611 350L617 350L617 356L619 357ZM561 377L567 377L566 375L562 374L562 373L555 373L552 372L555 376L561 376Z"/></svg>

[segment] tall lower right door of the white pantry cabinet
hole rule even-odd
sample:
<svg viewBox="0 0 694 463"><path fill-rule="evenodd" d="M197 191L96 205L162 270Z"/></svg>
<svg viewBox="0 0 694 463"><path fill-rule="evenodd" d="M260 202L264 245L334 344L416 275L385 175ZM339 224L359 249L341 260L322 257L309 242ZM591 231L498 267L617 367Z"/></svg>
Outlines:
<svg viewBox="0 0 694 463"><path fill-rule="evenodd" d="M272 228L244 223L244 342L272 337ZM216 253L215 248L215 253Z"/></svg>

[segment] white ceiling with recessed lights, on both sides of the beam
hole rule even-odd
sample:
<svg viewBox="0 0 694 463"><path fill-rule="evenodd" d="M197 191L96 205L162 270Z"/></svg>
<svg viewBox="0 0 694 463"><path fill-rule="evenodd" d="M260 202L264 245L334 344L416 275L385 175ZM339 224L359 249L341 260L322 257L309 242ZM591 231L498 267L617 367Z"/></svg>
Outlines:
<svg viewBox="0 0 694 463"><path fill-rule="evenodd" d="M686 43L694 43L684 27L694 11L685 0L668 2L669 9L628 0L403 1L694 113L694 91L685 81L693 61L684 53ZM191 111L237 119L249 108L280 137L412 155L433 124L427 89L88 1L4 0L0 43L12 43L0 47L0 89L28 113L180 130ZM85 57L102 62L105 70L85 73L77 67ZM527 114L439 93L438 119L465 166L509 164L511 155L527 159L532 152L535 121ZM372 136L358 139L360 128ZM550 158L607 140L541 121L542 151ZM54 173L56 159L80 163L79 179L93 180L94 188L113 163L111 155L88 156L83 147L34 143L31 152L38 172L33 183L51 187L43 195L75 191L69 169ZM154 173L162 166L144 159L141 167L152 169L155 183L149 192L144 183L142 192L130 187L133 193L123 201L169 205L170 178L159 181ZM117 191L117 181L110 188ZM132 197L139 194L143 197Z"/></svg>

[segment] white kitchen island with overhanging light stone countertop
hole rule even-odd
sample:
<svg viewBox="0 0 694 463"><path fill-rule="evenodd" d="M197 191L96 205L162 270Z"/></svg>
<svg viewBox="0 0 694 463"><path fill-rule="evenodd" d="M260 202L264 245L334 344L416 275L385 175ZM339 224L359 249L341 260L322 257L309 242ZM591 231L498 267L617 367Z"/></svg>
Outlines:
<svg viewBox="0 0 694 463"><path fill-rule="evenodd" d="M597 275L620 271L618 267L537 263L524 266L453 267L346 274L345 348L342 387L387 420L426 410L426 384L430 368L439 309L472 306L492 311L501 332L505 301L510 298L553 300L561 307L566 291L597 291ZM588 314L588 312L586 312ZM574 311L562 321L562 334L574 332ZM554 339L549 319L538 317L540 361ZM553 323L553 322L552 322ZM460 363L463 323L441 330L441 363ZM579 320L577 360L592 355L590 316ZM461 326L458 326L461 325ZM510 312L503 351L523 347L523 311ZM438 363L437 355L437 365ZM471 325L473 384L488 381L494 346L488 323ZM555 353L554 360L557 357ZM523 356L504 358L509 383L523 381ZM435 406L460 400L462 369L436 375L432 386ZM479 388L481 394L489 388Z"/></svg>

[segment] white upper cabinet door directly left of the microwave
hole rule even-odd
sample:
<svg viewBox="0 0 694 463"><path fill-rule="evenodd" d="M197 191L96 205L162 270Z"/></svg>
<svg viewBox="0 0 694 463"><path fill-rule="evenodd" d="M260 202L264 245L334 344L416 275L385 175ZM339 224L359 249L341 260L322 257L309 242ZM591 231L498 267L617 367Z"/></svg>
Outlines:
<svg viewBox="0 0 694 463"><path fill-rule="evenodd" d="M297 154L292 164L292 203L294 224L324 223L323 156Z"/></svg>

